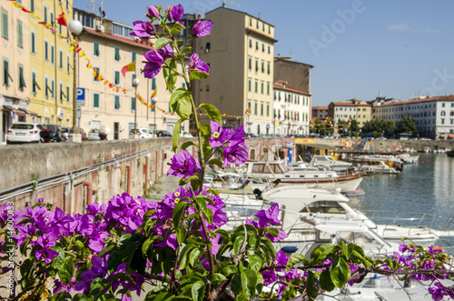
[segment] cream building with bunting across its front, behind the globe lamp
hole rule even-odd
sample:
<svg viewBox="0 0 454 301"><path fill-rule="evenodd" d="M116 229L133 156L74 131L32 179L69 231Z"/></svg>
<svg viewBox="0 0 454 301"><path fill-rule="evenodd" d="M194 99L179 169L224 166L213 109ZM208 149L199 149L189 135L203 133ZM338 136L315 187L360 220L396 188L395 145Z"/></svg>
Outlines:
<svg viewBox="0 0 454 301"><path fill-rule="evenodd" d="M140 71L143 53L152 49L152 44L133 39L129 35L133 30L130 25L77 9L74 12L74 18L84 25L80 47L85 56L78 59L77 76L77 87L84 88L84 100L78 100L82 109L80 126L84 131L104 127L108 139L127 139L136 120L137 127L167 130L173 134L179 116L170 113L171 94L166 90L162 73L148 79ZM123 66L132 62L136 62L136 72L128 72L123 77ZM101 78L94 76L94 69ZM136 76L140 81L137 95L141 98L135 96L133 78ZM175 85L181 87L184 83L179 79ZM183 123L183 130L189 131L188 121Z"/></svg>

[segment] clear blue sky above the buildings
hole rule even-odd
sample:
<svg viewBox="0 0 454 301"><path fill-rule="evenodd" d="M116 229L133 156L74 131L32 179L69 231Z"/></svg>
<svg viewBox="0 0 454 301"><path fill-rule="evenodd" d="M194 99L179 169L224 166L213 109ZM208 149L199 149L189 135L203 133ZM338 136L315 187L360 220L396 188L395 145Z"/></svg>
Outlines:
<svg viewBox="0 0 454 301"><path fill-rule="evenodd" d="M145 6L182 4L206 12L222 0L104 0L106 17L132 25ZM101 0L95 0L95 10ZM312 105L382 96L454 94L452 0L235 0L229 8L274 25L274 55L313 65ZM92 10L91 0L74 6Z"/></svg>

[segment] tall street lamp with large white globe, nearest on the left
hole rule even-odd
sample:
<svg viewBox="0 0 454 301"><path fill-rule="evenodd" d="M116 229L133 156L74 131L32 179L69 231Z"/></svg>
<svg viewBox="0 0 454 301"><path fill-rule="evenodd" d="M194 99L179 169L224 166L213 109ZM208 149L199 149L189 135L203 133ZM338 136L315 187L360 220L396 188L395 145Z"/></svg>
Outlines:
<svg viewBox="0 0 454 301"><path fill-rule="evenodd" d="M68 30L73 34L74 41L77 40L78 35L82 33L84 27L79 20L72 20L68 24ZM69 139L72 142L82 142L81 131L77 127L77 47L74 46L74 83L73 83L73 127L70 130Z"/></svg>

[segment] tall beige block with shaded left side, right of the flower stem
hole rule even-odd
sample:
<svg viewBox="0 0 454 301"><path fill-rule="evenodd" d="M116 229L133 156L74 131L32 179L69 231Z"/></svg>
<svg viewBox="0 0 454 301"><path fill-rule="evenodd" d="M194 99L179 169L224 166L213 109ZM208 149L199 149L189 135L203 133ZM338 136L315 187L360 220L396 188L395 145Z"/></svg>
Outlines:
<svg viewBox="0 0 454 301"><path fill-rule="evenodd" d="M215 105L224 126L271 133L274 26L260 15L225 5L206 13L205 19L214 23L212 34L197 38L194 50L211 70L208 78L194 82L196 104Z"/></svg>

